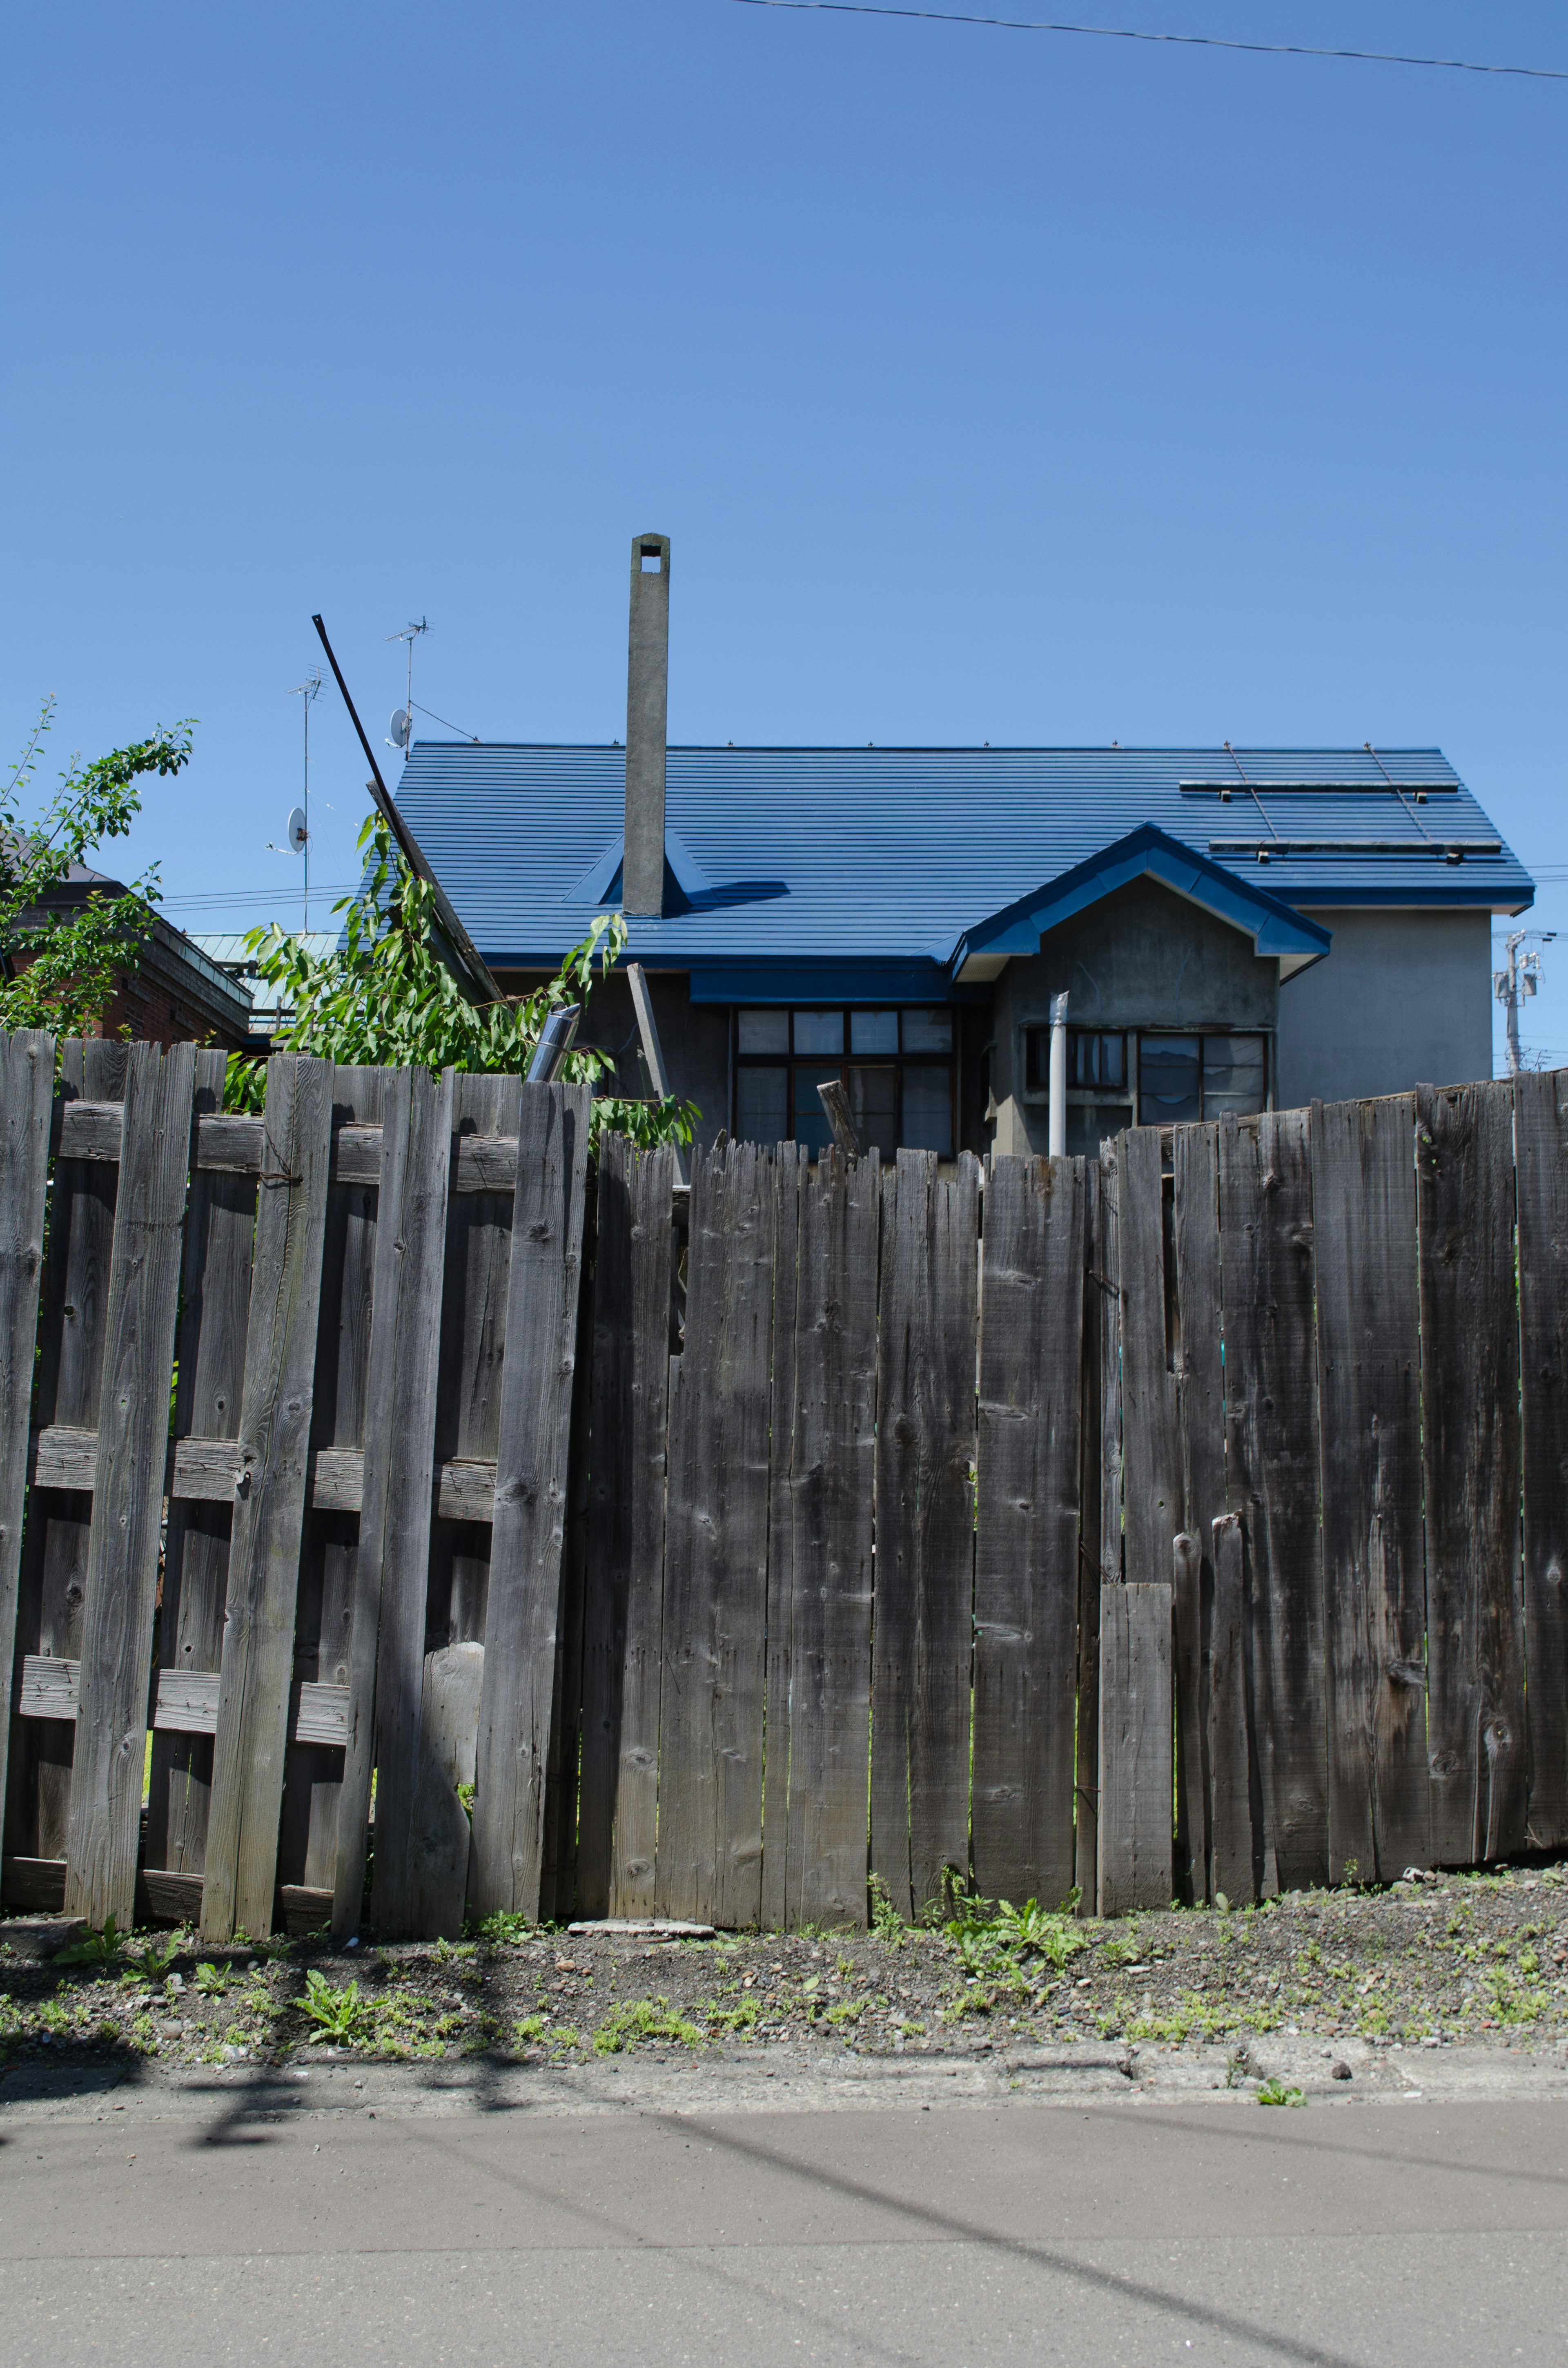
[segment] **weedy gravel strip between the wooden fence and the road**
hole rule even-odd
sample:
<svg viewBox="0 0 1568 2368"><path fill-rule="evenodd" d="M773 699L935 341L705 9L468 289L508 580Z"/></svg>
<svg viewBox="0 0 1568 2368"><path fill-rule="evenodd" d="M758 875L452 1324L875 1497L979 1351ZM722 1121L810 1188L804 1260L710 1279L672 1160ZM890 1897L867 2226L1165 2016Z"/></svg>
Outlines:
<svg viewBox="0 0 1568 2368"><path fill-rule="evenodd" d="M921 1932L649 1939L561 1928L462 1944L197 1946L144 1932L107 1963L24 1956L0 1920L0 2100L24 2067L284 2065L334 2058L782 2060L952 2055L1030 2044L1421 2041L1568 2036L1568 1868L1532 1866L1293 1892L1244 1913L1099 1923L985 1918ZM9 1939L7 1939L9 1935Z"/></svg>

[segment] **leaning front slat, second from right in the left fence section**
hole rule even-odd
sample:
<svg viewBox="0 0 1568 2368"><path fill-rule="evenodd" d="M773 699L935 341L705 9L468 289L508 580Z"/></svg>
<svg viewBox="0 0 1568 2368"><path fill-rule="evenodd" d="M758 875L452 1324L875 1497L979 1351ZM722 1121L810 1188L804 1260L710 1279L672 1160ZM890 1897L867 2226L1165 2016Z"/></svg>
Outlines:
<svg viewBox="0 0 1568 2368"><path fill-rule="evenodd" d="M353 1750L343 1769L343 1816L360 1830L369 1785L367 1648L374 1648L379 1932L417 1932L415 1793L424 1703L424 1613L436 1471L436 1376L445 1208L452 1139L452 1070L388 1070L381 1108L381 1212L365 1407L365 1508L353 1613ZM360 1643L365 1636L365 1646ZM379 1641L377 1641L379 1639ZM353 1928L360 1880L339 1847L334 1920Z"/></svg>

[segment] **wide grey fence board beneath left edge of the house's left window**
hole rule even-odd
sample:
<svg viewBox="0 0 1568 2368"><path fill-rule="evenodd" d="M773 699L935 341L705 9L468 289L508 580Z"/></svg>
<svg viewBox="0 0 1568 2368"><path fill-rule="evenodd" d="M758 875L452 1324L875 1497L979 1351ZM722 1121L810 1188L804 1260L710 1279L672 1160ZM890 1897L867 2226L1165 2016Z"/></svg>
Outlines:
<svg viewBox="0 0 1568 2368"><path fill-rule="evenodd" d="M763 1904L770 1186L756 1144L692 1156L670 1390L654 1906L718 1925Z"/></svg>

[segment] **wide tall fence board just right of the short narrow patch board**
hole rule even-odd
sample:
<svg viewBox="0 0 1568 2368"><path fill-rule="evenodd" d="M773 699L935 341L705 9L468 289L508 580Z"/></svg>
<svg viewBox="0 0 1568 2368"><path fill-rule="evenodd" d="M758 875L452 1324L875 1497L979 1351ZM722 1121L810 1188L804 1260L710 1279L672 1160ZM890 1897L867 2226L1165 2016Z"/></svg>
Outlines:
<svg viewBox="0 0 1568 2368"><path fill-rule="evenodd" d="M1324 1565L1305 1111L1220 1120L1227 1485L1248 1527L1262 1887L1329 1878Z"/></svg>

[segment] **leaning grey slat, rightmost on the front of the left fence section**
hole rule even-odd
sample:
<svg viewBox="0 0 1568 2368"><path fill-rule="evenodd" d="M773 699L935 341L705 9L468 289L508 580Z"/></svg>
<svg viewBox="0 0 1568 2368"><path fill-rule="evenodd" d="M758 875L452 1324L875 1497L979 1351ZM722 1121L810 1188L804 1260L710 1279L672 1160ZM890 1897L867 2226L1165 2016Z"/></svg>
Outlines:
<svg viewBox="0 0 1568 2368"><path fill-rule="evenodd" d="M523 1085L507 1276L486 1606L486 1677L474 1776L469 1911L538 1916L545 1769L566 1532L583 1198L585 1087Z"/></svg>

